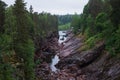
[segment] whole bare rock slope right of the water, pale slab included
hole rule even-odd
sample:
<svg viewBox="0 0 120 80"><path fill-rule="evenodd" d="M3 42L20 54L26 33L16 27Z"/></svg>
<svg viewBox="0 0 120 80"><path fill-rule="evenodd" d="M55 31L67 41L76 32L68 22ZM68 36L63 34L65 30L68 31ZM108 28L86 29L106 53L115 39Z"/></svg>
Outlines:
<svg viewBox="0 0 120 80"><path fill-rule="evenodd" d="M60 60L57 55L53 58L58 64L55 63L57 69L52 70L50 80L119 80L120 61L104 52L104 42L80 51L79 48L84 45L83 37L75 36L72 31L68 31L67 35L63 48L57 54Z"/></svg>

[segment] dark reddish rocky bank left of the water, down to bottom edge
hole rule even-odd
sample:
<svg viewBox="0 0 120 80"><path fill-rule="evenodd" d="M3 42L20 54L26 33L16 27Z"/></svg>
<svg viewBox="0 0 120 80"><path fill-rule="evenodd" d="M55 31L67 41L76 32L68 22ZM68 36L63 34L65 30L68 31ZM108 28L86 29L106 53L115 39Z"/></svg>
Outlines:
<svg viewBox="0 0 120 80"><path fill-rule="evenodd" d="M51 74L49 63L59 50L58 33L53 32L48 36L37 39L34 61L36 80L47 80Z"/></svg>

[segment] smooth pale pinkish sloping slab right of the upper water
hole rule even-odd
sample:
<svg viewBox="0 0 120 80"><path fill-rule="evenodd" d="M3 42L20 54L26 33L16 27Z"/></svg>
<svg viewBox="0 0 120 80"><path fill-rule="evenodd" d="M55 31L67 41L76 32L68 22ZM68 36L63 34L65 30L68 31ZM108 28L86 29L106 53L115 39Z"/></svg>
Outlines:
<svg viewBox="0 0 120 80"><path fill-rule="evenodd" d="M64 42L64 47L60 50L59 56L62 58L74 54L80 46L82 46L82 38L77 38L72 31L68 31L67 40Z"/></svg>

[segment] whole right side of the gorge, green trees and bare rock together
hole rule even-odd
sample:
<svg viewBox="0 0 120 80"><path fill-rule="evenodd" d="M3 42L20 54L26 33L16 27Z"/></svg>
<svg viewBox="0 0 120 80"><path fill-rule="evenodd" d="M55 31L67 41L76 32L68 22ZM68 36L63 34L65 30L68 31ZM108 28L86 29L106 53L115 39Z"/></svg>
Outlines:
<svg viewBox="0 0 120 80"><path fill-rule="evenodd" d="M57 78L120 80L119 18L120 0L89 0L81 15L74 14Z"/></svg>

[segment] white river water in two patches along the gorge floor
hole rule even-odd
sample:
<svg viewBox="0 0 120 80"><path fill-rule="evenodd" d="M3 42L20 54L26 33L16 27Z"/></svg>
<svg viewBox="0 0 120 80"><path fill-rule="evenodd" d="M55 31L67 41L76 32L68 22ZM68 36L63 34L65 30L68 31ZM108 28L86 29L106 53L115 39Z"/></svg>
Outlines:
<svg viewBox="0 0 120 80"><path fill-rule="evenodd" d="M59 31L59 43L61 44L62 42L64 42L65 40L66 40L66 31ZM50 67L51 67L51 69L52 69L52 71L56 71L56 70L58 70L56 67L55 67L55 65L59 62L59 56L58 55L55 55L53 58L52 58L52 63L51 63L51 65L50 65Z"/></svg>

